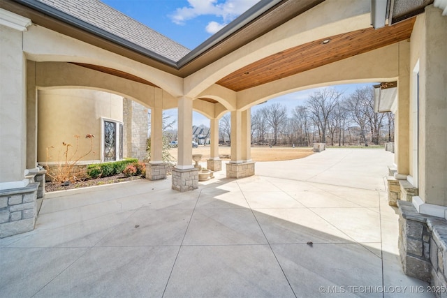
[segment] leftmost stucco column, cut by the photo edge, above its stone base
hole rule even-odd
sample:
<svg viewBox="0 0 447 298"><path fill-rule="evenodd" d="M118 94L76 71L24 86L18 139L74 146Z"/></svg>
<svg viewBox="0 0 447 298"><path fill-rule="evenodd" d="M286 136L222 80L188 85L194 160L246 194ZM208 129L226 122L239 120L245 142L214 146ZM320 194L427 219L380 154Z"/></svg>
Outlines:
<svg viewBox="0 0 447 298"><path fill-rule="evenodd" d="M0 25L0 190L27 186L27 86L22 32Z"/></svg>

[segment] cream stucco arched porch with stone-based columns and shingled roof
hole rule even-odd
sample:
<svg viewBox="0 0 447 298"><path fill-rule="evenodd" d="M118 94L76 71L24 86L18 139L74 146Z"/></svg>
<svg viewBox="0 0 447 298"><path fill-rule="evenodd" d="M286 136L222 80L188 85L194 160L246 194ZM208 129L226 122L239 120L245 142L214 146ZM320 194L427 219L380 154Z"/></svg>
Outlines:
<svg viewBox="0 0 447 298"><path fill-rule="evenodd" d="M221 166L219 118L230 112L226 174L247 177L255 174L252 106L312 87L381 82L376 110L395 113L388 198L400 199L403 268L447 286L447 1L261 0L193 50L97 0L2 0L0 8L0 202L38 192L42 91L105 91L150 108L149 179L166 177L163 110L178 107L171 183L190 191L198 188L193 111L210 119L209 169ZM11 221L1 208L0 237L34 228L36 216Z"/></svg>

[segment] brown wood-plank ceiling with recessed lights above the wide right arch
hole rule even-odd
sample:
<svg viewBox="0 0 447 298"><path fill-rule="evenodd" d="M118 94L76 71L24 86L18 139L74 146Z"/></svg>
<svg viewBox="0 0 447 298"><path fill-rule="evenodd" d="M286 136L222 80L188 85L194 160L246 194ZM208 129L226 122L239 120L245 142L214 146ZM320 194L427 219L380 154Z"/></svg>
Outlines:
<svg viewBox="0 0 447 298"><path fill-rule="evenodd" d="M244 66L223 77L217 84L233 91L242 91L376 50L410 38L414 22L415 18L412 17L393 26L360 29L292 47ZM330 42L324 44L323 40Z"/></svg>

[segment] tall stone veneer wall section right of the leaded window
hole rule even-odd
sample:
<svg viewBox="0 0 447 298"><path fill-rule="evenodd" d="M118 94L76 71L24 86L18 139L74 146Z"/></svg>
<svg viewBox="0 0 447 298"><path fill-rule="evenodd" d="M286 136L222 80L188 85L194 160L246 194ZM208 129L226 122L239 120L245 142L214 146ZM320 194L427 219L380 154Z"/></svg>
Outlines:
<svg viewBox="0 0 447 298"><path fill-rule="evenodd" d="M148 133L148 114L144 105L123 98L123 154L126 157L146 158L146 141Z"/></svg>

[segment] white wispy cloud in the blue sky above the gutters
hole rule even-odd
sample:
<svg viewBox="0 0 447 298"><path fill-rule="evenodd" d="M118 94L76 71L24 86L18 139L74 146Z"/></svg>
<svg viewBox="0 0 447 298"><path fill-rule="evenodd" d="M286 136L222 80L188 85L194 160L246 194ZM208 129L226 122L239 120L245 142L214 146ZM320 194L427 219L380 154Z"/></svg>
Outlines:
<svg viewBox="0 0 447 298"><path fill-rule="evenodd" d="M254 6L259 0L225 0L219 3L217 0L188 0L189 6L177 8L171 20L175 24L185 24L187 20L192 20L200 15L214 15L222 19L222 22L210 22L207 31L211 33L219 25L220 28L231 22L236 17ZM219 30L217 30L219 31ZM216 31L216 32L217 32Z"/></svg>

